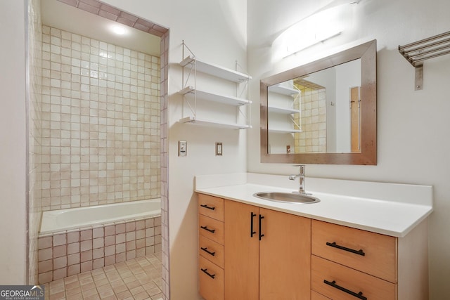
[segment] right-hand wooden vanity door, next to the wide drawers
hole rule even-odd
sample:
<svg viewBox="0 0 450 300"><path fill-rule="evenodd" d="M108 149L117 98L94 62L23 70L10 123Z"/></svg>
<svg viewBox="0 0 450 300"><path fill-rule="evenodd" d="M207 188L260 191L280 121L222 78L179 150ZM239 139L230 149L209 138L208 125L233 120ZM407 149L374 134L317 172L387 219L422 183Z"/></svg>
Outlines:
<svg viewBox="0 0 450 300"><path fill-rule="evenodd" d="M311 219L259 209L259 299L311 299Z"/></svg>

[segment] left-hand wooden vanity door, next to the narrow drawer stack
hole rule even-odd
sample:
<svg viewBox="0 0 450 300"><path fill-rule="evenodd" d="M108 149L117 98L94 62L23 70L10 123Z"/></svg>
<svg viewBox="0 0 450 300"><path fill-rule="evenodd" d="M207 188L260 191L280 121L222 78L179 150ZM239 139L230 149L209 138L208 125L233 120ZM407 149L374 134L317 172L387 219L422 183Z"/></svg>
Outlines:
<svg viewBox="0 0 450 300"><path fill-rule="evenodd" d="M224 206L225 299L257 300L259 208L229 200Z"/></svg>

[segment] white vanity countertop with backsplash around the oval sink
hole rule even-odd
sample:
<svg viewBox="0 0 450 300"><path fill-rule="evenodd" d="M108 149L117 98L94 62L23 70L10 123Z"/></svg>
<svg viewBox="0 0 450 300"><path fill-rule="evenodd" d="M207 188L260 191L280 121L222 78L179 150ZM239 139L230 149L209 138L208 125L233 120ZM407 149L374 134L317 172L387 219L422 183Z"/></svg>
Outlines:
<svg viewBox="0 0 450 300"><path fill-rule="evenodd" d="M306 178L307 193L321 201L297 204L264 200L258 192L293 192L288 176L225 174L196 176L195 192L305 216L374 233L404 237L432 212L432 187ZM310 189L308 188L310 186Z"/></svg>

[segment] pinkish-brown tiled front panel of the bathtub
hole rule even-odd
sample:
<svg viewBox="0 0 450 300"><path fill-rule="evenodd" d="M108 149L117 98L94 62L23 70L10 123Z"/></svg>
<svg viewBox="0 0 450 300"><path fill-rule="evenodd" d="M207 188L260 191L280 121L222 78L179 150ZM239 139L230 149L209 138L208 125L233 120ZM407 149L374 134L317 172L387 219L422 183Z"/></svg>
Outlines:
<svg viewBox="0 0 450 300"><path fill-rule="evenodd" d="M39 236L39 284L161 252L161 217Z"/></svg>

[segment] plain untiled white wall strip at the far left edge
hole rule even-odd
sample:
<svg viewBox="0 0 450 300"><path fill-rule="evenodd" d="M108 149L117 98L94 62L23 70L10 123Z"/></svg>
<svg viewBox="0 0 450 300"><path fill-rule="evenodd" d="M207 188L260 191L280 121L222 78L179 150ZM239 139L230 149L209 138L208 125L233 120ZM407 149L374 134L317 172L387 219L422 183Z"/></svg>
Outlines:
<svg viewBox="0 0 450 300"><path fill-rule="evenodd" d="M25 6L0 2L0 282L25 285L27 259Z"/></svg>

